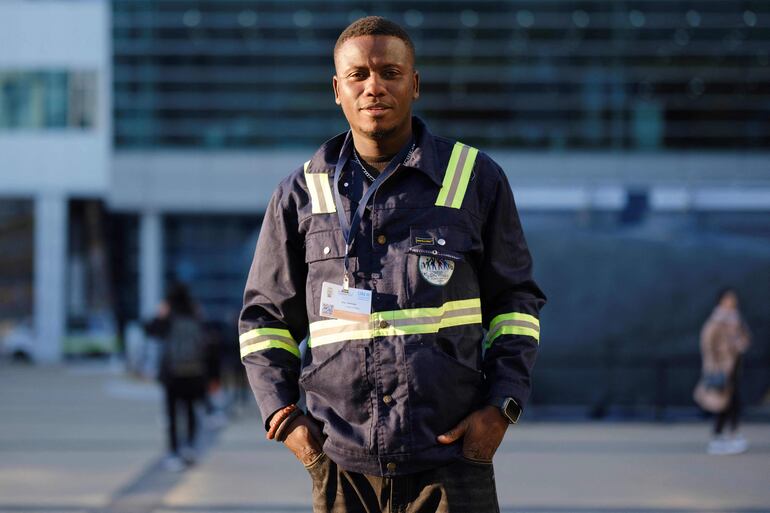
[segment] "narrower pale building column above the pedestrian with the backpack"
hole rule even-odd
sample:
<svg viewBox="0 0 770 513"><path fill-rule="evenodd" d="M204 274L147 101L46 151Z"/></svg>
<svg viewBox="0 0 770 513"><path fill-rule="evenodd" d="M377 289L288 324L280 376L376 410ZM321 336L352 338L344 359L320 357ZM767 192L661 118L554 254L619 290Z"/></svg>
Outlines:
<svg viewBox="0 0 770 513"><path fill-rule="evenodd" d="M139 225L139 312L155 315L163 299L163 216L143 212Z"/></svg>

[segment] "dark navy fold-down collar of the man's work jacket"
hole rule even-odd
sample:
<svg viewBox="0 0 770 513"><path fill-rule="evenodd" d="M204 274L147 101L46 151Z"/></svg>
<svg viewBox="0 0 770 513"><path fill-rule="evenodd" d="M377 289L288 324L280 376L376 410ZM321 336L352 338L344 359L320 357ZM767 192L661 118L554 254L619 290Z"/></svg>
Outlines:
<svg viewBox="0 0 770 513"><path fill-rule="evenodd" d="M417 116L412 117L412 134L416 144L412 156L404 166L422 171L437 185L441 185L444 181L444 169L440 167L436 141L425 123ZM323 143L310 160L308 172L334 173L346 135L347 132L343 132Z"/></svg>

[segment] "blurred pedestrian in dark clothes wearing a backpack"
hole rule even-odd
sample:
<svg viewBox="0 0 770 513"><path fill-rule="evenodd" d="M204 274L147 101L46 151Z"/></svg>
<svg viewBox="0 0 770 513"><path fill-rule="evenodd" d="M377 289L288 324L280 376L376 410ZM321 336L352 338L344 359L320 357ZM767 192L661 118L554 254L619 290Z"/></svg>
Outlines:
<svg viewBox="0 0 770 513"><path fill-rule="evenodd" d="M158 315L145 325L148 335L161 341L160 371L166 399L169 454L164 466L182 470L195 462L198 434L196 408L206 398L207 342L197 308L187 287L172 285ZM187 414L187 438L180 444L177 413Z"/></svg>

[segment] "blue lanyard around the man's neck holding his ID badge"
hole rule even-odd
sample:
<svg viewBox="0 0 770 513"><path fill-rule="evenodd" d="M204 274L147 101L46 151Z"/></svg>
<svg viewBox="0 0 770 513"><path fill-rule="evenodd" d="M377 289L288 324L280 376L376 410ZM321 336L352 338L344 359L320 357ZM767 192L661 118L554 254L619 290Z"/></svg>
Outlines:
<svg viewBox="0 0 770 513"><path fill-rule="evenodd" d="M361 219L364 217L364 211L366 210L366 205L369 203L369 200L372 199L372 196L377 192L377 189L380 188L380 185L385 182L390 176L396 171L398 166L401 164L401 162L406 158L406 156L409 154L409 150L411 148L411 144L407 144L404 146L404 148L393 157L393 159L388 164L388 167L386 167L372 182L372 184L369 186L369 188L366 190L364 195L361 197L361 201L358 203L358 208L356 209L355 213L353 214L353 219L348 223L348 218L345 215L345 209L342 206L342 199L340 198L340 189L339 189L339 181L340 177L342 176L342 170L345 168L345 165L348 163L348 160L350 160L350 155L353 152L353 136L351 135L351 132L348 131L348 135L345 136L345 142L342 143L342 149L340 150L340 156L337 159L337 166L334 169L334 205L337 207L337 217L340 219L340 228L342 228L342 236L345 238L345 275L342 278L342 288L344 290L348 290L349 287L349 280L348 280L348 268L350 266L350 249L353 246L353 241L356 237L356 232L358 231L358 226L361 224Z"/></svg>

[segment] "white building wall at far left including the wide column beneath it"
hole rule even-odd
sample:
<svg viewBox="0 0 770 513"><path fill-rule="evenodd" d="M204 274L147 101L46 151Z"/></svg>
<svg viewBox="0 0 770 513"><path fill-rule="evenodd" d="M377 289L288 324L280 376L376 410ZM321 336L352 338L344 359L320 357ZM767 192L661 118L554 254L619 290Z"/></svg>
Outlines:
<svg viewBox="0 0 770 513"><path fill-rule="evenodd" d="M0 200L35 201L35 343L61 358L68 200L104 197L111 153L109 0L0 1L0 71L96 73L95 126L0 130Z"/></svg>

